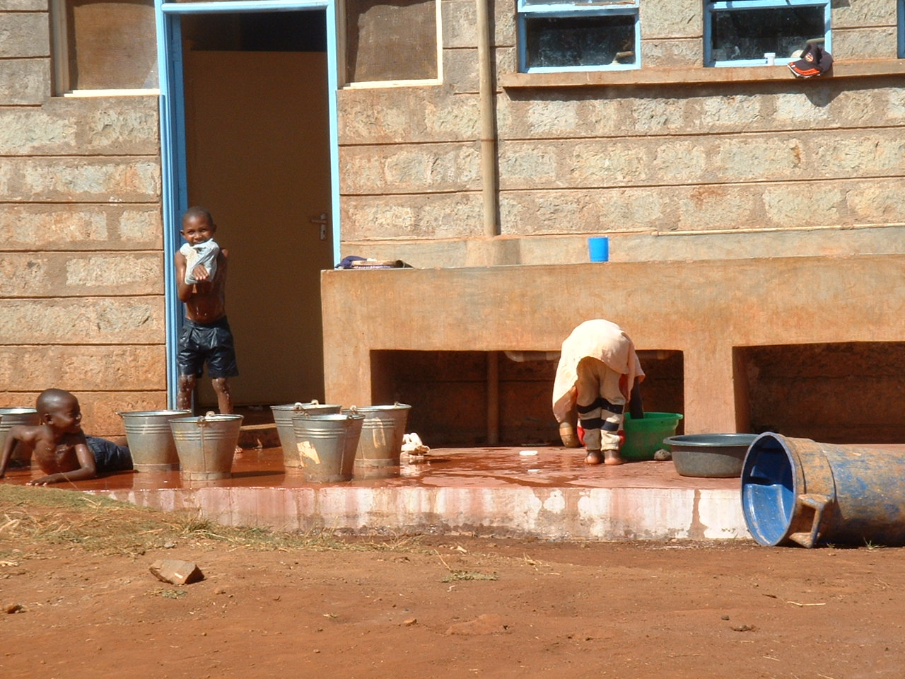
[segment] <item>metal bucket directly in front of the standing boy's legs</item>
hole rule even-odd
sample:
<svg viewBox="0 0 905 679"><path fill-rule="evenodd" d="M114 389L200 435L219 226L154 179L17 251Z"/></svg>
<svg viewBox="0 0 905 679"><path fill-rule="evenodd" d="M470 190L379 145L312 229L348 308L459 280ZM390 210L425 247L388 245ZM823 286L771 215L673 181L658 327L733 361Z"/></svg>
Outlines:
<svg viewBox="0 0 905 679"><path fill-rule="evenodd" d="M171 419L169 426L176 443L182 478L186 481L230 478L242 420L241 415L214 413Z"/></svg>

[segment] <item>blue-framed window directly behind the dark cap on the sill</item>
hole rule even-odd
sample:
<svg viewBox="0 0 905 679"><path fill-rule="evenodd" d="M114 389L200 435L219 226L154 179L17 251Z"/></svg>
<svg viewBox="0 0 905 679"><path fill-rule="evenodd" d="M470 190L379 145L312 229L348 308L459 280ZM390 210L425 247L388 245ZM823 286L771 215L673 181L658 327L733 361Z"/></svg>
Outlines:
<svg viewBox="0 0 905 679"><path fill-rule="evenodd" d="M767 54L788 63L808 43L830 44L828 0L704 0L707 66L761 66Z"/></svg>

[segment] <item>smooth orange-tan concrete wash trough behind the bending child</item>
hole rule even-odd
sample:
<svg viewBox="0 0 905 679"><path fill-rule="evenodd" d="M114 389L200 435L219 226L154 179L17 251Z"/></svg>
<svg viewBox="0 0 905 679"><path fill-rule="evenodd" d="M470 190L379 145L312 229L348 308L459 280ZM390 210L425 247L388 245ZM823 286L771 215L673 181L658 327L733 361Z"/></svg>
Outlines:
<svg viewBox="0 0 905 679"><path fill-rule="evenodd" d="M859 255L328 271L327 400L370 404L376 349L556 351L579 322L598 316L628 330L638 349L682 352L686 433L745 431L748 385L735 349L905 341L903 262ZM796 384L804 397L806 381ZM859 397L837 395L834 404Z"/></svg>

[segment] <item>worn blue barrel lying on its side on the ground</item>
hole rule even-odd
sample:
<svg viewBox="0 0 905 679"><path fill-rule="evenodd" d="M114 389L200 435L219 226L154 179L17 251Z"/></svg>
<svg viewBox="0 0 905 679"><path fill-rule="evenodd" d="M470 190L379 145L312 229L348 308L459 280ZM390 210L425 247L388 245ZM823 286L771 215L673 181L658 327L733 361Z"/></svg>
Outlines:
<svg viewBox="0 0 905 679"><path fill-rule="evenodd" d="M762 434L745 455L741 502L762 545L905 545L905 452Z"/></svg>

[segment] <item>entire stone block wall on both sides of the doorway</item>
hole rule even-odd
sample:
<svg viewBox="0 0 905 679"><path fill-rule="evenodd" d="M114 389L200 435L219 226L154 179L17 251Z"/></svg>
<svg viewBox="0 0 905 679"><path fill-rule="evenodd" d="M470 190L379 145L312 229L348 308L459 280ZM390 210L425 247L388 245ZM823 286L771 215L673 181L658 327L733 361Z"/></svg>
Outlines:
<svg viewBox="0 0 905 679"><path fill-rule="evenodd" d="M476 5L438 1L441 82L338 91L342 254L569 265L590 234L622 263L905 252L896 0L834 2L834 75L811 81L704 68L701 0L641 0L637 71L518 73L496 0L493 238ZM158 100L54 96L50 24L47 0L0 0L0 405L69 388L118 435L116 411L166 405Z"/></svg>

